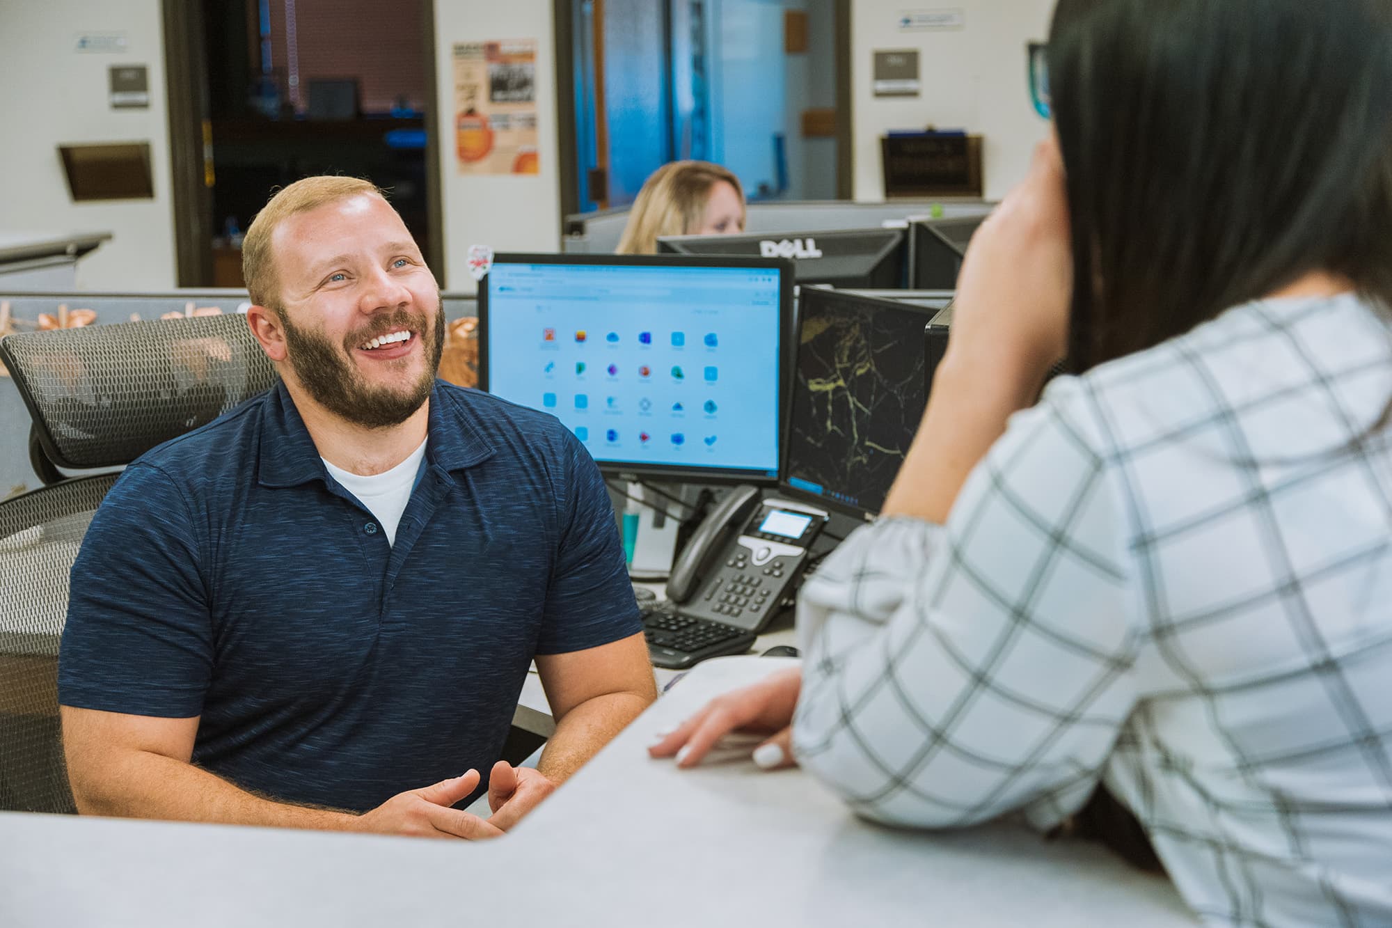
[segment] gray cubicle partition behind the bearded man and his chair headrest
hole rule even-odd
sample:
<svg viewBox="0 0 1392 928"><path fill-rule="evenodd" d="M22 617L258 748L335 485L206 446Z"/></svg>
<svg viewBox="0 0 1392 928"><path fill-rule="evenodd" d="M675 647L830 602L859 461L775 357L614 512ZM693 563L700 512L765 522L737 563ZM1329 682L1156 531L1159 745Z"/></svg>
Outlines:
<svg viewBox="0 0 1392 928"><path fill-rule="evenodd" d="M477 315L472 294L443 293L445 319L454 322ZM60 307L68 312L90 309L96 323L159 319L167 312L193 314L199 309L245 312L251 301L245 290L164 290L157 293L0 293L0 302L10 304L10 312L19 332L38 327L39 314L54 318ZM39 477L29 464L29 411L19 399L14 380L0 376L0 499L11 492L36 489Z"/></svg>

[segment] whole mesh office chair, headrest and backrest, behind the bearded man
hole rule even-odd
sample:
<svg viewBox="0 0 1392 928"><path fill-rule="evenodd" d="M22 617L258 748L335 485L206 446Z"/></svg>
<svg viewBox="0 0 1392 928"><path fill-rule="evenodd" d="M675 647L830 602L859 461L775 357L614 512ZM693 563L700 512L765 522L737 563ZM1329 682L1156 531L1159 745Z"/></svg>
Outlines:
<svg viewBox="0 0 1392 928"><path fill-rule="evenodd" d="M129 464L267 390L276 371L238 315L17 334L0 361L52 464L50 485L0 503L0 810L71 812L58 642L68 571L117 474L57 468Z"/></svg>

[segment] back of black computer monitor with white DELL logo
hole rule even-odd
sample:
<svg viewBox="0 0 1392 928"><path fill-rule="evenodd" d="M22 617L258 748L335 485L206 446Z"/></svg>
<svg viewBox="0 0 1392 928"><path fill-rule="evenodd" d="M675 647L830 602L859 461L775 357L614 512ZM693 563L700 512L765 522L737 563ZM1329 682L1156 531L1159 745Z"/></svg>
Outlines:
<svg viewBox="0 0 1392 928"><path fill-rule="evenodd" d="M903 229L842 229L741 235L664 235L660 254L788 258L799 284L874 287L908 284L908 233Z"/></svg>

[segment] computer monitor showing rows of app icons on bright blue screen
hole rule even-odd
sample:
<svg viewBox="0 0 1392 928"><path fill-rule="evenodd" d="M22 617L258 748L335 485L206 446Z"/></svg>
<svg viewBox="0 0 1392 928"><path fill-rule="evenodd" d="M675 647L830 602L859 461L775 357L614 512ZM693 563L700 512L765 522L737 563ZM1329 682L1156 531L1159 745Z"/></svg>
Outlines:
<svg viewBox="0 0 1392 928"><path fill-rule="evenodd" d="M479 284L479 387L610 474L774 484L791 339L780 259L496 255Z"/></svg>

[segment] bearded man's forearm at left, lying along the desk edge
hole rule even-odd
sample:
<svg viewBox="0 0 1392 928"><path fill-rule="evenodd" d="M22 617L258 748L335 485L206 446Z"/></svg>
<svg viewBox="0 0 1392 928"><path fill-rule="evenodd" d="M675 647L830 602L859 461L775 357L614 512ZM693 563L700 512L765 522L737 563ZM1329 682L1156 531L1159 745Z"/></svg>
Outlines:
<svg viewBox="0 0 1392 928"><path fill-rule="evenodd" d="M192 764L150 751L109 758L100 782L74 782L78 810L88 815L157 818L269 828L351 830L351 812L306 808L262 798Z"/></svg>

